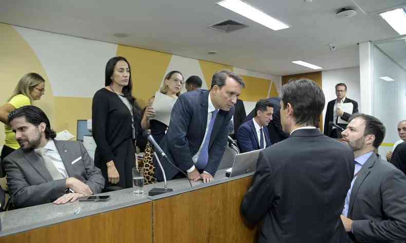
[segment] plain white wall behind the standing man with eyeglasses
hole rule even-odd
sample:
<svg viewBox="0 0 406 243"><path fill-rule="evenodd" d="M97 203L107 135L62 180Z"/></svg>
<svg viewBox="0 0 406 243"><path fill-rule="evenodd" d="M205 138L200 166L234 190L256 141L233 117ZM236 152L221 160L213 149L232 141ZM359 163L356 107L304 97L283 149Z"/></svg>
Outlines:
<svg viewBox="0 0 406 243"><path fill-rule="evenodd" d="M354 99L356 102L358 102L358 105L360 105L361 92L359 67L322 71L321 75L323 80L323 92L326 97L326 105L323 110L323 117L326 117L327 103L330 100L337 98L336 85L338 83L346 84L346 97Z"/></svg>

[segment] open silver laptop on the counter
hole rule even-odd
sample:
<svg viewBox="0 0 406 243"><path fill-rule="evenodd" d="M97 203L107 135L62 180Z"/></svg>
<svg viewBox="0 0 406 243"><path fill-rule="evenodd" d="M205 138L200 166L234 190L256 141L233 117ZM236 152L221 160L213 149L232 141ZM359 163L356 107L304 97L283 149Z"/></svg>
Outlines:
<svg viewBox="0 0 406 243"><path fill-rule="evenodd" d="M233 177L255 171L256 161L262 149L235 155L233 167L227 170L226 176Z"/></svg>

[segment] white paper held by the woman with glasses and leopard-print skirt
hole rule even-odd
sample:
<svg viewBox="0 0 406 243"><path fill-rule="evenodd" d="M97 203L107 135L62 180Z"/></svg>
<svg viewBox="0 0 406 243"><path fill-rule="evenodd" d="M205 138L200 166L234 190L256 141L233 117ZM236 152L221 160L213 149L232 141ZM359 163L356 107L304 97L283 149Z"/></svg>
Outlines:
<svg viewBox="0 0 406 243"><path fill-rule="evenodd" d="M173 105L175 105L177 98L169 97L157 91L155 93L154 108L156 115L152 119L159 120L159 122L169 126L169 120L171 119L171 112Z"/></svg>

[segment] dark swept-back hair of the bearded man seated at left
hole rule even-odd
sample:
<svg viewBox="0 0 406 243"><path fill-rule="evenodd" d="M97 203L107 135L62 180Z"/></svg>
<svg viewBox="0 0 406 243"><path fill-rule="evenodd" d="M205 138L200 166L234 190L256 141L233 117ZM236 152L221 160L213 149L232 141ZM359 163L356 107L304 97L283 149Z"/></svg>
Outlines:
<svg viewBox="0 0 406 243"><path fill-rule="evenodd" d="M57 136L57 133L51 129L51 124L49 123L47 115L36 106L23 106L13 110L8 115L8 123L19 117L25 117L27 122L34 126L39 126L41 123L45 123L45 137L47 139L53 139Z"/></svg>

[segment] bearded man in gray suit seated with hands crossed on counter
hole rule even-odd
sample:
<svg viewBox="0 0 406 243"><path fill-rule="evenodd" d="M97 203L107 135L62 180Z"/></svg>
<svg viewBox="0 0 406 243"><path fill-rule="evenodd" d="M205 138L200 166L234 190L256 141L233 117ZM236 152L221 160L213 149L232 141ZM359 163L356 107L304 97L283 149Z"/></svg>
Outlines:
<svg viewBox="0 0 406 243"><path fill-rule="evenodd" d="M20 144L4 159L11 202L16 208L54 202L65 204L100 193L104 178L77 141L58 141L48 117L24 106L8 116Z"/></svg>

